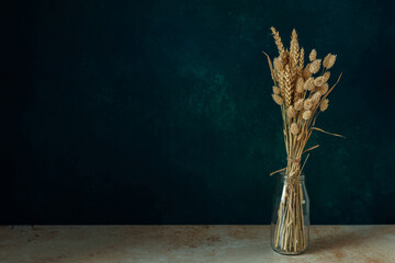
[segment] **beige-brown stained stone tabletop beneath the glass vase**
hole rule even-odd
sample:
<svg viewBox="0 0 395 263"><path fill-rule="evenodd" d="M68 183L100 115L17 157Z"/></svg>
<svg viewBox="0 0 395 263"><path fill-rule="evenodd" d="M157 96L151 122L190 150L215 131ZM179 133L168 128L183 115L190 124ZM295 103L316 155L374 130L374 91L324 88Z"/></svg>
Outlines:
<svg viewBox="0 0 395 263"><path fill-rule="evenodd" d="M269 226L2 226L0 263L395 263L395 225L312 226L302 255L271 250Z"/></svg>

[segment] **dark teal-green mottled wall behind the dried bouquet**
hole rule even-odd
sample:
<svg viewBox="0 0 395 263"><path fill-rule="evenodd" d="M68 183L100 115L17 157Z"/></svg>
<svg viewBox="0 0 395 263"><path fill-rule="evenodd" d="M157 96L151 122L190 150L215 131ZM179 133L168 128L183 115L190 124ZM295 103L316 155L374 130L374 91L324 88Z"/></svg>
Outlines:
<svg viewBox="0 0 395 263"><path fill-rule="evenodd" d="M269 224L272 25L343 72L318 126L347 139L309 142L312 224L395 224L393 1L9 2L1 224Z"/></svg>

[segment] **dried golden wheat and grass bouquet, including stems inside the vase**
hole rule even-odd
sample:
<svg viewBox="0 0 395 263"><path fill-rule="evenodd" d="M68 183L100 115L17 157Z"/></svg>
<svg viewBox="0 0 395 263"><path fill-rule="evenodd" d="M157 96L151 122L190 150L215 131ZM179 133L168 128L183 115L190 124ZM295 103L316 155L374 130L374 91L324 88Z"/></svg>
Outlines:
<svg viewBox="0 0 395 263"><path fill-rule="evenodd" d="M280 55L274 58L273 64L266 53L264 55L268 57L275 87L272 96L274 102L280 105L282 113L287 155L286 168L279 170L285 170L287 180L278 211L274 245L280 251L297 252L304 251L307 245L301 210L303 193L297 180L302 172L302 155L318 147L304 150L313 130L324 132L315 127L315 122L318 114L328 108L329 100L327 96L340 80L341 75L329 89L330 72L328 69L334 66L336 55L328 54L321 60L317 58L317 52L313 49L308 56L309 64L304 65L305 52L303 47L300 48L296 31L293 30L292 32L290 50L285 49L279 32L274 27L271 27L271 31Z"/></svg>

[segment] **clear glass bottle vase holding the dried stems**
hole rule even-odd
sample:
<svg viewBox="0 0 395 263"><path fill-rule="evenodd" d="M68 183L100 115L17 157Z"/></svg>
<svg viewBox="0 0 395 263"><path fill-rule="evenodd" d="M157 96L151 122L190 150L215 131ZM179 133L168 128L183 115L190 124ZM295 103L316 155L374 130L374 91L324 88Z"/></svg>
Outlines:
<svg viewBox="0 0 395 263"><path fill-rule="evenodd" d="M280 254L301 254L309 239L309 199L305 176L280 173L270 227L270 243Z"/></svg>

